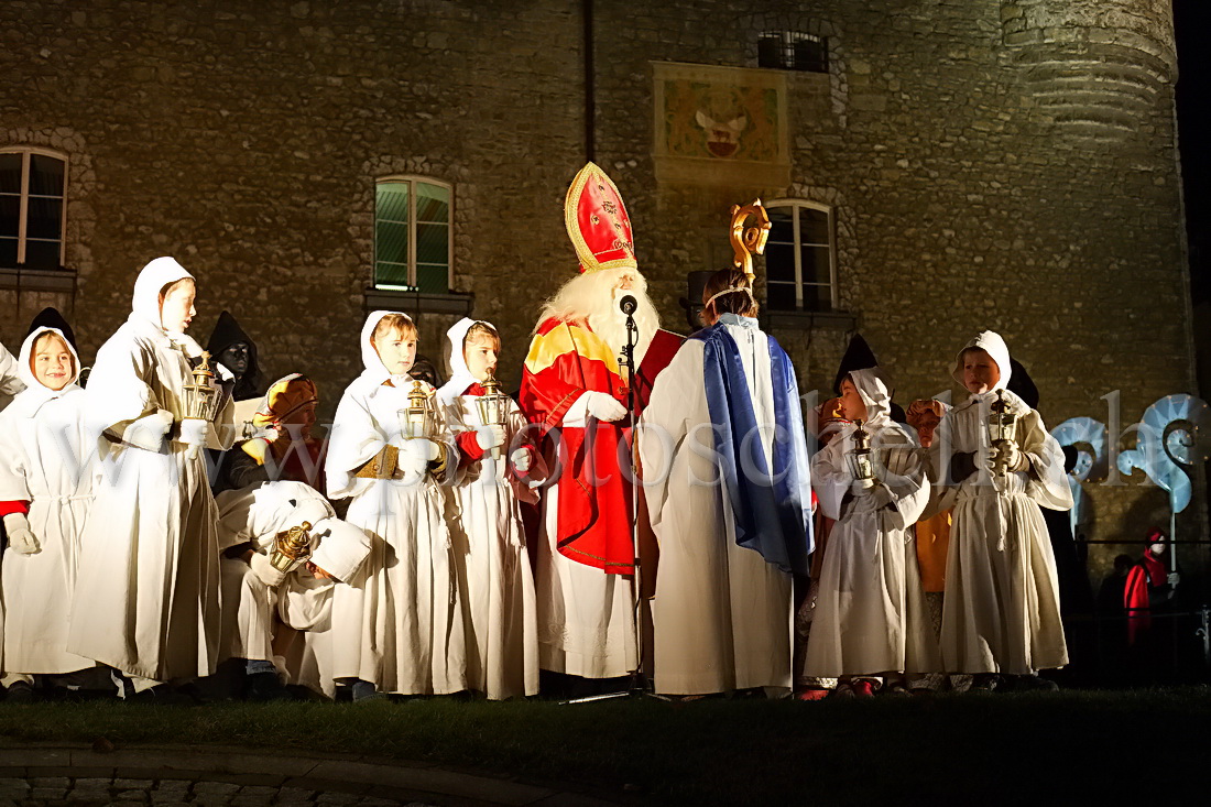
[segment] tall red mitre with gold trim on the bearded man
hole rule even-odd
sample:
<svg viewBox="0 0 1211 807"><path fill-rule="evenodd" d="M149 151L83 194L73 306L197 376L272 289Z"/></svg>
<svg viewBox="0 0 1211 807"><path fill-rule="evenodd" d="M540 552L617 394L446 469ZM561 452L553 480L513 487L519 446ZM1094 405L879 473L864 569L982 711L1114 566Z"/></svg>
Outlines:
<svg viewBox="0 0 1211 807"><path fill-rule="evenodd" d="M568 188L563 223L580 258L580 271L637 269L631 219L618 188L590 162Z"/></svg>

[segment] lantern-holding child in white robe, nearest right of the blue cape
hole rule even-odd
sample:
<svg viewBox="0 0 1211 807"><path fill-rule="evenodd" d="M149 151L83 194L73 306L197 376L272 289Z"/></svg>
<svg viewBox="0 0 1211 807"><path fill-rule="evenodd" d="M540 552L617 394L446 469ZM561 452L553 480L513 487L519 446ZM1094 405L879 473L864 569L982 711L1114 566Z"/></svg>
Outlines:
<svg viewBox="0 0 1211 807"><path fill-rule="evenodd" d="M916 442L890 417L891 396L878 368L842 382L846 423L811 459L821 511L837 522L820 573L808 675L838 677L839 696L869 696L880 679L907 692L906 672L941 666L920 589L913 525L929 503L929 481ZM874 457L874 483L850 462L854 420L862 420Z"/></svg>

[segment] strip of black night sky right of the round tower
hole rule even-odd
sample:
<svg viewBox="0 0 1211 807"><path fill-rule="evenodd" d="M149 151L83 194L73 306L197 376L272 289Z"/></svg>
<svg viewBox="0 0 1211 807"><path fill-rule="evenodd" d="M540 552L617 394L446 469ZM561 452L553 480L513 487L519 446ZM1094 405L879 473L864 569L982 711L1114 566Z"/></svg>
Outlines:
<svg viewBox="0 0 1211 807"><path fill-rule="evenodd" d="M1194 303L1211 298L1211 0L1173 0L1177 29L1177 124L1186 189Z"/></svg>

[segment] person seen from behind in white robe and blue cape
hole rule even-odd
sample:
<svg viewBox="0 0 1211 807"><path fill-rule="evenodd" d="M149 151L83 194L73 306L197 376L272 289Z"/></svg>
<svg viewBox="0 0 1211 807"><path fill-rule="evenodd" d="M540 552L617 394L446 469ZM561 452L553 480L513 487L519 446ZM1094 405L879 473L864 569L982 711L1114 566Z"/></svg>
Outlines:
<svg viewBox="0 0 1211 807"><path fill-rule="evenodd" d="M660 546L656 692L790 688L791 574L811 551L811 480L794 367L757 327L752 279L702 292L708 327L658 377L637 442Z"/></svg>

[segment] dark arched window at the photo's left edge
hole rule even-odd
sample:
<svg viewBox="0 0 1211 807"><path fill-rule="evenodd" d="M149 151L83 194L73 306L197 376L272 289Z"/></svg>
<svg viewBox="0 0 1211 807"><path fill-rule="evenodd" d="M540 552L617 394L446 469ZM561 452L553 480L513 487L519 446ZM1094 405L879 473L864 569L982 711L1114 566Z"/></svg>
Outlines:
<svg viewBox="0 0 1211 807"><path fill-rule="evenodd" d="M63 267L67 187L67 156L36 147L0 148L0 267Z"/></svg>

